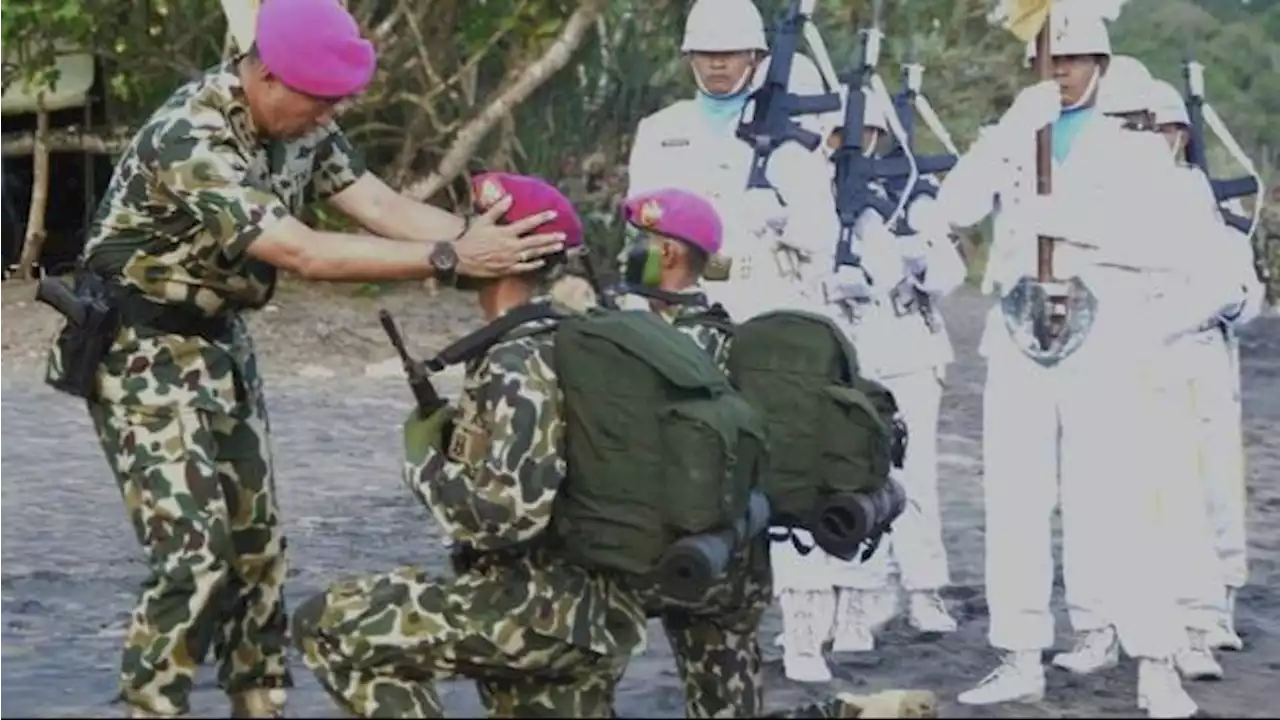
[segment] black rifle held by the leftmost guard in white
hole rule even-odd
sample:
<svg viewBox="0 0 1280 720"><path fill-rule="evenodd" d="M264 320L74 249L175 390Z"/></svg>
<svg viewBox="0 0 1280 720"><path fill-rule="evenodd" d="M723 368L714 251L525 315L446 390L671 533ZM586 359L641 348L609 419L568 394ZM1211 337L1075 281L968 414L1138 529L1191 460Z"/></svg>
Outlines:
<svg viewBox="0 0 1280 720"><path fill-rule="evenodd" d="M796 95L787 86L791 82L791 60L804 35L805 23L813 15L817 0L791 0L778 23L769 51L769 70L764 82L748 97L742 119L735 136L751 146L754 156L746 179L749 188L773 188L768 181L768 164L773 151L787 142L797 142L813 151L822 137L795 122L796 115L833 113L840 109L840 95Z"/></svg>

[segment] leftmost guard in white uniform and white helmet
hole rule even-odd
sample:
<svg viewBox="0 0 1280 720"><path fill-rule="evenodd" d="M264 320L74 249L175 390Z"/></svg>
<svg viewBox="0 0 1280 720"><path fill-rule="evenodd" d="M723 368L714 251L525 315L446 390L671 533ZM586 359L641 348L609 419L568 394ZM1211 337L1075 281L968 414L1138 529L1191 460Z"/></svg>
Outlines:
<svg viewBox="0 0 1280 720"><path fill-rule="evenodd" d="M646 117L636 127L627 193L678 187L698 192L719 211L731 277L708 296L739 322L772 310L822 307L815 283L828 274L823 258L840 233L831 173L819 152L786 143L769 158L773 190L746 188L754 158L735 136L768 54L764 20L751 0L698 0L689 10L681 50L698 94ZM795 69L792 70L796 72ZM791 538L771 557L774 592L788 642L787 678L829 682L823 643L831 634L836 592L824 555L801 556Z"/></svg>

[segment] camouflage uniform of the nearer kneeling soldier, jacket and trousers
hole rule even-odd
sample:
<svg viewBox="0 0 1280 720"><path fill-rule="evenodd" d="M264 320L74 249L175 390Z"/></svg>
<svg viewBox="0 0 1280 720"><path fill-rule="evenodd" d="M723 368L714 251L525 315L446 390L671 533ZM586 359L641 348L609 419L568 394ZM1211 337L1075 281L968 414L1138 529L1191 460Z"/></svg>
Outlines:
<svg viewBox="0 0 1280 720"><path fill-rule="evenodd" d="M456 413L406 421L404 482L468 548L457 577L339 582L294 614L307 666L347 712L440 717L433 683L468 676L490 715L612 716L644 607L543 533L566 474L563 398L553 336L522 332L534 327L468 365Z"/></svg>

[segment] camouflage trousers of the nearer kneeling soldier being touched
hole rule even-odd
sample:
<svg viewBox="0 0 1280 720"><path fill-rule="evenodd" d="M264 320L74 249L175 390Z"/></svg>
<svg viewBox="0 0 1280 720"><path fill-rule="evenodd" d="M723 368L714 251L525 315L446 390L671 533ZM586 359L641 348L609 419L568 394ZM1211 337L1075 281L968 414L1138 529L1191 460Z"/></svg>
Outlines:
<svg viewBox="0 0 1280 720"><path fill-rule="evenodd" d="M303 602L293 638L320 684L357 717L443 717L436 680L471 678L492 717L612 717L630 656L609 657L498 612L506 588L416 568L343 580ZM490 615L490 619L481 619Z"/></svg>

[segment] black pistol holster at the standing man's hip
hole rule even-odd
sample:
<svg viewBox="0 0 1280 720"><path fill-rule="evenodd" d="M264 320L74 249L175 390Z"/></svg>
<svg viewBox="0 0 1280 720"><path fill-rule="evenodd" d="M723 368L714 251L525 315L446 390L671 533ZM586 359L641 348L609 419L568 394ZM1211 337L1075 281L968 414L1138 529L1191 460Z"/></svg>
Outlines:
<svg viewBox="0 0 1280 720"><path fill-rule="evenodd" d="M67 318L56 340L63 372L50 373L46 382L59 392L93 400L97 370L120 331L120 313L110 287L101 277L79 270L73 282L41 278L36 300Z"/></svg>

